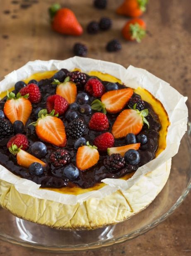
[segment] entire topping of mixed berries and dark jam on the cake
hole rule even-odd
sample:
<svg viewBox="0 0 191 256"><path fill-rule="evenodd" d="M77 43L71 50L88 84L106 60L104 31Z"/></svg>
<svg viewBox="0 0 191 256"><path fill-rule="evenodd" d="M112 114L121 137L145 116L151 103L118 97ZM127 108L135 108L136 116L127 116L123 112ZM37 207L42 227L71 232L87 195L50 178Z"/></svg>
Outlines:
<svg viewBox="0 0 191 256"><path fill-rule="evenodd" d="M160 120L133 89L62 69L0 101L0 164L41 187L93 187L155 158Z"/></svg>

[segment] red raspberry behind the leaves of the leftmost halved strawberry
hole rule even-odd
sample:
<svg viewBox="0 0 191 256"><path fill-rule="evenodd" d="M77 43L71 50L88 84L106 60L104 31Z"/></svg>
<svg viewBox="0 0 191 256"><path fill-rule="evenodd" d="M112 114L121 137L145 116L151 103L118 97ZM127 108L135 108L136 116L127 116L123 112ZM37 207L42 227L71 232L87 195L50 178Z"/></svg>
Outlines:
<svg viewBox="0 0 191 256"><path fill-rule="evenodd" d="M31 103L38 103L41 101L41 93L39 87L35 84L29 84L26 87L20 89L19 92L22 96L29 93L29 100Z"/></svg>

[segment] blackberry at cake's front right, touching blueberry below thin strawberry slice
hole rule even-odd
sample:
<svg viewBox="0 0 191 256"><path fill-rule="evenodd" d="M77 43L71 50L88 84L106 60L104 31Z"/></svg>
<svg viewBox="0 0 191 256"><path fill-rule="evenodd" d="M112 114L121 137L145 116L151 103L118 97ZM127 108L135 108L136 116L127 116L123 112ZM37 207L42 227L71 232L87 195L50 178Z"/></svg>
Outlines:
<svg viewBox="0 0 191 256"><path fill-rule="evenodd" d="M104 159L104 166L109 171L117 171L125 166L125 159L120 154L111 154Z"/></svg>

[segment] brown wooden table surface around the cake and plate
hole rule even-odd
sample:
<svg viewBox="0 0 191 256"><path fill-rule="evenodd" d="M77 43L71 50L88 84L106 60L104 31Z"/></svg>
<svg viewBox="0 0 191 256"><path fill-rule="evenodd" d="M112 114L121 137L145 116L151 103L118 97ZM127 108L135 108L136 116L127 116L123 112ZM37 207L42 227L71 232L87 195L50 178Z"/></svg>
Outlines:
<svg viewBox="0 0 191 256"><path fill-rule="evenodd" d="M126 42L121 27L126 17L115 14L122 0L108 0L106 10L96 10L92 0L59 0L71 8L85 28L91 20L108 16L113 28L97 35L81 37L59 35L51 30L47 8L53 0L0 0L0 78L29 60L63 60L73 56L72 46L83 42L88 57L116 62L125 67L142 67L169 82L185 96L191 95L191 2L190 0L150 0L143 18L147 37L140 44ZM121 52L108 53L106 43L118 38ZM170 97L170 95L169 95ZM191 113L191 100L187 105ZM166 221L133 241L97 251L82 252L85 256L103 255L191 255L191 194ZM0 255L53 255L18 247L0 241ZM74 256L76 254L70 254Z"/></svg>

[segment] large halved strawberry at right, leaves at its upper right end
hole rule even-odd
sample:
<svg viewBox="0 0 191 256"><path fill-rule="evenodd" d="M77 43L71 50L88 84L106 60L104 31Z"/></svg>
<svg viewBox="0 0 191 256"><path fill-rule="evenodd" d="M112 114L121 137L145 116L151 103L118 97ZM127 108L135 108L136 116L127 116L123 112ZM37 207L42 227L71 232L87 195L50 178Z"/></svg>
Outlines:
<svg viewBox="0 0 191 256"><path fill-rule="evenodd" d="M149 127L147 119L145 118L148 115L148 109L139 111L135 109L135 107L136 104L133 107L134 109L125 109L118 115L111 131L114 138L123 138L131 132L135 135L138 134L143 128L143 122Z"/></svg>

